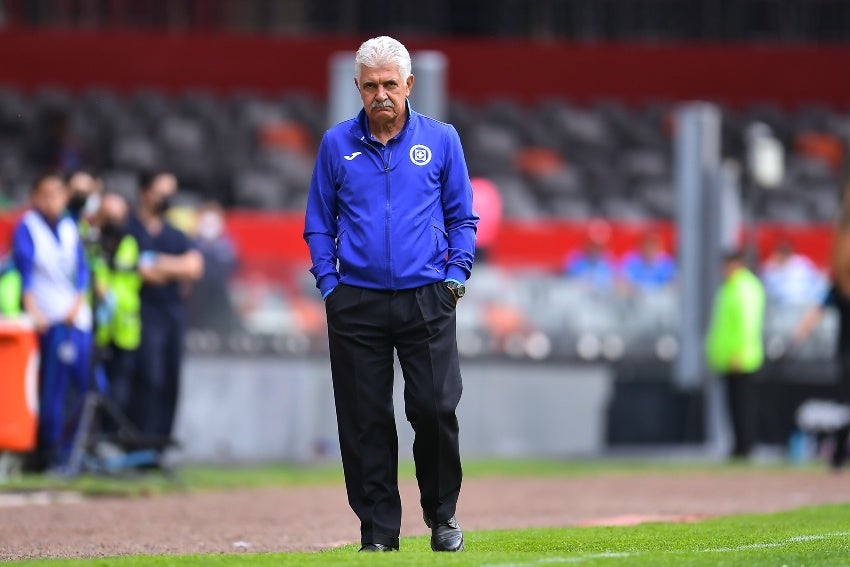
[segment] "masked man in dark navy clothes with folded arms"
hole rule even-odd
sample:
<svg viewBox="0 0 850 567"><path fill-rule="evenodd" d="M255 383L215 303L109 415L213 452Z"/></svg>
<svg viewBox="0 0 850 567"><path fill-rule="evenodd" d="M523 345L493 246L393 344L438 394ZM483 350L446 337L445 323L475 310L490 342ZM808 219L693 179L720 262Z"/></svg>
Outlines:
<svg viewBox="0 0 850 567"><path fill-rule="evenodd" d="M143 282L139 292L142 334L128 415L143 434L163 443L172 438L177 409L186 327L184 286L204 272L200 251L165 218L176 193L173 174L143 176L138 208L127 224L139 246Z"/></svg>

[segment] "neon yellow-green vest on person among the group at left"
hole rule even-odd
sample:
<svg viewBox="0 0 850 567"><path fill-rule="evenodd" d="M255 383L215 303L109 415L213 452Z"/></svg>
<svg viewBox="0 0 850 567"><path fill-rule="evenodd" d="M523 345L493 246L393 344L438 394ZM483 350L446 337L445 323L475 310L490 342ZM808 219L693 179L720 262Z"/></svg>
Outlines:
<svg viewBox="0 0 850 567"><path fill-rule="evenodd" d="M138 271L139 245L130 235L124 236L115 252L113 267L102 257L93 261L92 272L98 292L107 294L114 302L106 324L97 327L98 346L114 344L124 350L135 350L142 338L141 300L142 276Z"/></svg>

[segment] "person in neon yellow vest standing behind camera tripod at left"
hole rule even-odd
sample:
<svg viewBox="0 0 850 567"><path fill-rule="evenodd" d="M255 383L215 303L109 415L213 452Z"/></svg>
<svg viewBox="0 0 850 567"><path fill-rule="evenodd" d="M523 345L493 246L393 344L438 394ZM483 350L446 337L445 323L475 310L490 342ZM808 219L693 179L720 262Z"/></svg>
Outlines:
<svg viewBox="0 0 850 567"><path fill-rule="evenodd" d="M103 196L95 219L100 254L92 262L95 291L95 344L102 353L109 398L126 413L134 356L142 333L138 272L139 245L126 231L127 201L115 193Z"/></svg>

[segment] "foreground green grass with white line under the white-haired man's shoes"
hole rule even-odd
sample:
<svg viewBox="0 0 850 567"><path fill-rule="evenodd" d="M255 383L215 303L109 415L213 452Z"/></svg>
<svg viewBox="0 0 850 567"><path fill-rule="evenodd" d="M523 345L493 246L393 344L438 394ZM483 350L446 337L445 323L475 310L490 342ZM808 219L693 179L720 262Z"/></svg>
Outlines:
<svg viewBox="0 0 850 567"><path fill-rule="evenodd" d="M690 524L552 528L466 534L467 550L435 554L427 538L405 538L392 554L358 554L345 546L320 553L130 556L99 560L38 560L21 565L457 565L534 567L579 565L850 565L850 505L819 506Z"/></svg>

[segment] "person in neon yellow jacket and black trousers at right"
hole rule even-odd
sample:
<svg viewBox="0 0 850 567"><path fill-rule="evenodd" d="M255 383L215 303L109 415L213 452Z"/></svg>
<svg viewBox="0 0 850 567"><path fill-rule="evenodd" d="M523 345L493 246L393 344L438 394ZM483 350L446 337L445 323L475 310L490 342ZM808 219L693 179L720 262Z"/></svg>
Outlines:
<svg viewBox="0 0 850 567"><path fill-rule="evenodd" d="M749 456L758 436L756 376L764 363L765 294L745 265L744 252L723 258L723 282L714 297L705 340L706 359L723 376L734 443L731 456Z"/></svg>

